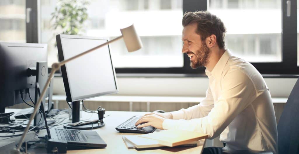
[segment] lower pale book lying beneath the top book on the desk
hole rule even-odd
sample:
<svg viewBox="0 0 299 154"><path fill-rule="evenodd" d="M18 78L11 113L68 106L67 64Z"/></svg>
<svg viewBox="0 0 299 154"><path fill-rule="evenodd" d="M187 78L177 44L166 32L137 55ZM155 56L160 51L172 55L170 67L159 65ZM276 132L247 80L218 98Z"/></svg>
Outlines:
<svg viewBox="0 0 299 154"><path fill-rule="evenodd" d="M125 135L123 136L123 142L126 144L128 149L155 149L160 147L166 147L158 143L158 141L149 139L149 138L142 138L138 135ZM196 147L197 142L191 142L189 144L180 145L179 147Z"/></svg>

